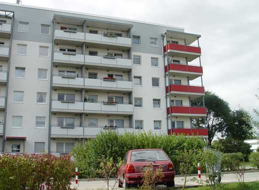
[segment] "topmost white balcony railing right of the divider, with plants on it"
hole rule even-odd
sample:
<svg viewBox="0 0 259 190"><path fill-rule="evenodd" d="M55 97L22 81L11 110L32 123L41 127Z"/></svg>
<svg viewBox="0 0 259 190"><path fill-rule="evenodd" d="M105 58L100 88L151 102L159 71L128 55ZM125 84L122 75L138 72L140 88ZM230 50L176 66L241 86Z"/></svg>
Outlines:
<svg viewBox="0 0 259 190"><path fill-rule="evenodd" d="M103 34L86 33L85 39L90 40L90 41L131 45L131 38L129 38L129 37L119 37L119 36L109 37L109 36L104 36Z"/></svg>

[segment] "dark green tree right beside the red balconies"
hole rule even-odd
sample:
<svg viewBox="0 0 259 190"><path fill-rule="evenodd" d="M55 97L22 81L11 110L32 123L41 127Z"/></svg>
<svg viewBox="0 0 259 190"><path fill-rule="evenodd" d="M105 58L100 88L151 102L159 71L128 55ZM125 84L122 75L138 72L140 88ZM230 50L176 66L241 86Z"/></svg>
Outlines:
<svg viewBox="0 0 259 190"><path fill-rule="evenodd" d="M211 91L206 91L204 96L205 106L207 108L206 118L195 119L193 125L195 127L204 126L206 119L206 127L208 128L208 145L211 146L212 140L217 132L226 129L231 109L228 102ZM201 98L192 101L192 105L202 105Z"/></svg>

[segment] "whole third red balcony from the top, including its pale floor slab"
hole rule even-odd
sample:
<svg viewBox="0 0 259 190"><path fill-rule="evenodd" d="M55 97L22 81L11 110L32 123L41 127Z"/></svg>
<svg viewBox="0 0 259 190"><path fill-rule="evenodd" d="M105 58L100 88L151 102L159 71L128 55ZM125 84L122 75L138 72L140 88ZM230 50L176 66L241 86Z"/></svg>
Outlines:
<svg viewBox="0 0 259 190"><path fill-rule="evenodd" d="M170 84L169 86L166 86L166 92L171 95L189 96L191 98L197 98L205 95L204 86L198 85Z"/></svg>

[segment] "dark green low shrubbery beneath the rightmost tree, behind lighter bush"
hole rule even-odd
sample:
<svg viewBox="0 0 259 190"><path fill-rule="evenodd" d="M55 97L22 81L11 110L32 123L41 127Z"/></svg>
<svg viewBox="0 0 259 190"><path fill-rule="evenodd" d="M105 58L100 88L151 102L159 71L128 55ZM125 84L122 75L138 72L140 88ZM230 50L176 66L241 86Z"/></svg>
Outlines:
<svg viewBox="0 0 259 190"><path fill-rule="evenodd" d="M252 151L250 144L231 137L213 142L212 147L223 153L241 152L245 155L245 161L248 161L248 156Z"/></svg>

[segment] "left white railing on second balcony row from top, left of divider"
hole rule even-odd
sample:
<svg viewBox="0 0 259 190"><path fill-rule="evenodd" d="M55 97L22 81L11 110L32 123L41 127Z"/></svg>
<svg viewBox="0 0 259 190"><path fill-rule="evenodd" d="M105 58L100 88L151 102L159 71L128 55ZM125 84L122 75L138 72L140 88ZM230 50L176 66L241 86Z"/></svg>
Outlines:
<svg viewBox="0 0 259 190"><path fill-rule="evenodd" d="M77 61L84 62L84 55L80 53L68 54L67 52L54 52L54 59L60 61Z"/></svg>

